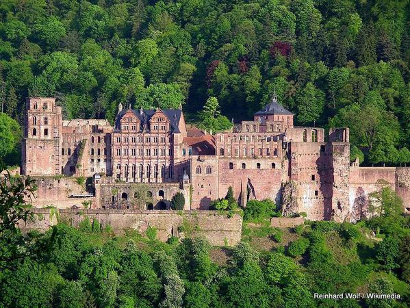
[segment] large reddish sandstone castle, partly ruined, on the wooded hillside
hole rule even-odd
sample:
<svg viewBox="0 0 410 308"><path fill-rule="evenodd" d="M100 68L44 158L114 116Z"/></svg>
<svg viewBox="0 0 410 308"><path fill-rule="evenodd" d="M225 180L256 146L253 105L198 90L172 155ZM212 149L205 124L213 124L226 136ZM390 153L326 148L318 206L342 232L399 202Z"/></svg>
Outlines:
<svg viewBox="0 0 410 308"><path fill-rule="evenodd" d="M275 94L253 120L214 135L185 125L182 110L120 105L114 127L62 120L55 99L42 97L27 99L24 121L22 173L42 178L40 200L69 190L60 175L92 178L92 207L106 209L168 209L177 192L185 209L208 209L231 186L242 206L270 198L288 216L355 221L383 180L410 209L410 168L350 166L348 128L325 138L322 128L295 127ZM58 183L44 184L47 176Z"/></svg>

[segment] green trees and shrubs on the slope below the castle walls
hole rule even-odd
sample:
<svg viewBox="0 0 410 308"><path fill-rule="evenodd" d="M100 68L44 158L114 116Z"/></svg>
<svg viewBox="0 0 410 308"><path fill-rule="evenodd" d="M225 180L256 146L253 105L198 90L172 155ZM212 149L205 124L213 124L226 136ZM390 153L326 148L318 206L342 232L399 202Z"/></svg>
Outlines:
<svg viewBox="0 0 410 308"><path fill-rule="evenodd" d="M0 307L410 307L410 217L387 186L370 206L381 215L357 224L272 228L276 205L249 201L235 210L242 242L214 247L186 223L167 242L152 227L116 234L86 216L78 228L22 233L16 222L33 218L24 196L34 190L30 179L0 181ZM344 293L392 298L314 297Z"/></svg>

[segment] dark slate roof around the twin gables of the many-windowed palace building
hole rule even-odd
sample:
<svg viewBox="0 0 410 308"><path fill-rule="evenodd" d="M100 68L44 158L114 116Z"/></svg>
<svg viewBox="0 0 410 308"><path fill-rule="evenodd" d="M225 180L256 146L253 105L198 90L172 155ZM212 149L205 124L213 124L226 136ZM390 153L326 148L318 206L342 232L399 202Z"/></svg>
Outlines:
<svg viewBox="0 0 410 308"><path fill-rule="evenodd" d="M124 114L128 110L123 109L121 110L115 120L114 124L114 131L120 131L120 120L123 118ZM149 123L149 120L151 120L151 117L157 112L155 109L143 109L143 110L131 110L133 114L136 115L136 117L140 120L140 131L143 130L144 127L146 127L146 124ZM170 129L174 133L180 133L179 131L179 120L181 120L181 114L182 110L179 109L162 109L161 110L165 116L168 118L170 121Z"/></svg>

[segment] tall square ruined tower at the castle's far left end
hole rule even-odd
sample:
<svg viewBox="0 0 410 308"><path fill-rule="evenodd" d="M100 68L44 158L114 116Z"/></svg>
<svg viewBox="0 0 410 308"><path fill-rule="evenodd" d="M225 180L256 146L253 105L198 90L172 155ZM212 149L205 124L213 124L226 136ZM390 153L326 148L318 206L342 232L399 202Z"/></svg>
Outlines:
<svg viewBox="0 0 410 308"><path fill-rule="evenodd" d="M60 175L62 109L55 99L26 100L22 141L23 175Z"/></svg>

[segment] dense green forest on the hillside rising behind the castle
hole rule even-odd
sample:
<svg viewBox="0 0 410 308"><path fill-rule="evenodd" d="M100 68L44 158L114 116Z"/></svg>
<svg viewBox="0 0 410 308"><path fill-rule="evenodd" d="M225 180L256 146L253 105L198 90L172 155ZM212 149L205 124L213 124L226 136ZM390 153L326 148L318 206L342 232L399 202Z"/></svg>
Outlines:
<svg viewBox="0 0 410 308"><path fill-rule="evenodd" d="M182 105L218 131L276 90L296 125L349 127L352 159L406 164L409 21L409 0L3 0L1 153L18 164L28 96L111 122Z"/></svg>

